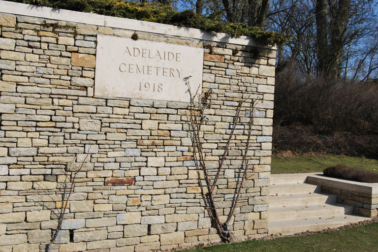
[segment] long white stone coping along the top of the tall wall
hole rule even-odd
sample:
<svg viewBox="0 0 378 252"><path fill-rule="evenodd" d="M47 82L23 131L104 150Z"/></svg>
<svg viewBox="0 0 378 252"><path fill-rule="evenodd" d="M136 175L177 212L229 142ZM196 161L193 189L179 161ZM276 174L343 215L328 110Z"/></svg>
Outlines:
<svg viewBox="0 0 378 252"><path fill-rule="evenodd" d="M71 10L56 9L50 7L40 7L31 4L10 2L0 0L0 12L22 16L39 17L59 21L75 22L95 26L105 26L134 30L139 32L151 32L172 36L188 37L205 41L224 42L236 45L256 46L256 42L247 36L233 38L226 33L203 32L199 29L184 28L172 25L158 24L147 21L103 16L93 13L85 13ZM132 29L130 29L132 28ZM261 47L261 46L259 46ZM277 47L266 47L276 50Z"/></svg>

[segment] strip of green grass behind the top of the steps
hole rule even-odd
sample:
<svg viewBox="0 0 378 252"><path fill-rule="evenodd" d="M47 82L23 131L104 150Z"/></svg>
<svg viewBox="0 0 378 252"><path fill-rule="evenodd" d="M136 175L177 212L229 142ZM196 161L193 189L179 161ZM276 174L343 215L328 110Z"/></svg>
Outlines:
<svg viewBox="0 0 378 252"><path fill-rule="evenodd" d="M323 172L331 165L344 164L378 173L378 160L340 156L299 156L292 158L272 158L271 173ZM378 251L378 249L377 249Z"/></svg>

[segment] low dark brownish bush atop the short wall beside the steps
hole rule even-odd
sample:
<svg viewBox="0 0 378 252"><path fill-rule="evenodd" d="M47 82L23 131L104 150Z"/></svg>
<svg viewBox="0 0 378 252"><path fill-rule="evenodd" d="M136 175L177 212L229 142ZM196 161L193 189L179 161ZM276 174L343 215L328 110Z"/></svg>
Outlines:
<svg viewBox="0 0 378 252"><path fill-rule="evenodd" d="M343 164L329 166L323 170L324 176L345 179L363 183L378 183L378 174L359 168L348 167Z"/></svg>

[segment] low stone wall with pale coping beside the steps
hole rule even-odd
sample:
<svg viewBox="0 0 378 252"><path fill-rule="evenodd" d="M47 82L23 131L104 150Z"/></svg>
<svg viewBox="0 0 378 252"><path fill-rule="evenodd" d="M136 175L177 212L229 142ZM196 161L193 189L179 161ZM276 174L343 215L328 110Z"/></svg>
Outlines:
<svg viewBox="0 0 378 252"><path fill-rule="evenodd" d="M376 217L378 214L377 183L360 183L319 175L309 176L308 183L321 185L321 191L337 195L337 202L354 206L354 214Z"/></svg>

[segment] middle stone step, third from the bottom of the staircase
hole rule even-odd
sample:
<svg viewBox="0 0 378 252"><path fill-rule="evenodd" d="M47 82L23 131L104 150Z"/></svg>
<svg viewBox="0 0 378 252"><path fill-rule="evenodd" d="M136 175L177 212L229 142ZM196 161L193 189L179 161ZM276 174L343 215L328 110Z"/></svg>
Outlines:
<svg viewBox="0 0 378 252"><path fill-rule="evenodd" d="M297 193L269 197L269 207L302 206L310 204L335 203L337 196L326 193Z"/></svg>

